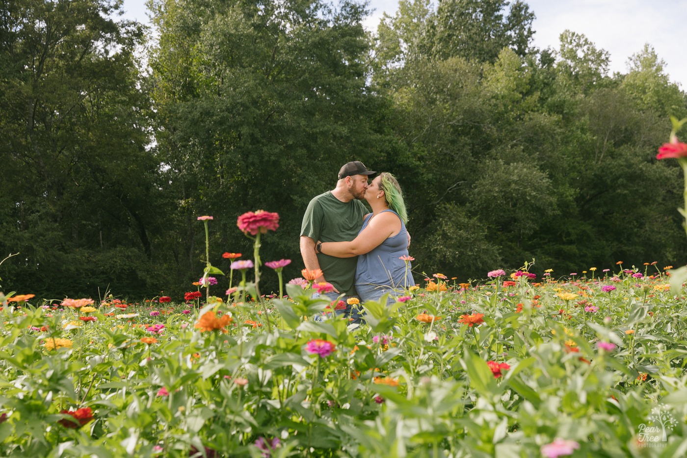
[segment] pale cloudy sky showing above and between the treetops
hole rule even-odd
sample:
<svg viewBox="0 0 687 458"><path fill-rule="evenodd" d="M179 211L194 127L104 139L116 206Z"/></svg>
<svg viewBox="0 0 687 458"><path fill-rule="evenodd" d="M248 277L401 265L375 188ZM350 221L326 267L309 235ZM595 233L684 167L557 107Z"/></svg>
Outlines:
<svg viewBox="0 0 687 458"><path fill-rule="evenodd" d="M434 0L436 1L436 0ZM124 0L124 17L148 22L144 0ZM630 56L653 46L673 83L687 90L687 52L684 50L684 18L687 0L526 0L534 19L533 44L559 49L564 30L583 34L598 49L611 55L611 74L627 73ZM376 30L382 14L393 16L398 0L370 0L374 10L364 22Z"/></svg>

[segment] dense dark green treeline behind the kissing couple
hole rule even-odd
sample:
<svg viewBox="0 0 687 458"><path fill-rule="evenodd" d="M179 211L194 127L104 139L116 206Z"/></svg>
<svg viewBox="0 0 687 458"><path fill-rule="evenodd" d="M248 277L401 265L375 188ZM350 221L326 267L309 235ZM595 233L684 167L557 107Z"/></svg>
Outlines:
<svg viewBox="0 0 687 458"><path fill-rule="evenodd" d="M682 174L655 160L687 98L651 45L611 76L575 32L532 47L523 1L402 0L374 34L353 1L153 0L153 30L115 0L0 5L5 292L178 300L196 217L228 273L258 209L281 216L262 259L299 276L304 209L349 160L398 177L418 273L687 261Z"/></svg>

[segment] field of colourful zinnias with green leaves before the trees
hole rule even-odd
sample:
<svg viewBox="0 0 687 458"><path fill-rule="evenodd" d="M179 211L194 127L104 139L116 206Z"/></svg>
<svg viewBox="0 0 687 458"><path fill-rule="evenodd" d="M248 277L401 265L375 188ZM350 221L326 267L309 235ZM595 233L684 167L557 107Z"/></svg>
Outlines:
<svg viewBox="0 0 687 458"><path fill-rule="evenodd" d="M434 274L361 304L359 327L295 284L207 305L0 296L0 456L684 456L668 276L532 276Z"/></svg>

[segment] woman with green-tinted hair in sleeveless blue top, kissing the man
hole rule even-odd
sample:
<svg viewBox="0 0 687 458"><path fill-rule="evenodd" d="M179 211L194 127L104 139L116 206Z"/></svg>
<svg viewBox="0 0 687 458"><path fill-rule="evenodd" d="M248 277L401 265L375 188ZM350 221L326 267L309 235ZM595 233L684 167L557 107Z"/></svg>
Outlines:
<svg viewBox="0 0 687 458"><path fill-rule="evenodd" d="M355 289L362 301L378 301L383 294L400 295L415 284L408 256L408 220L401 186L394 175L383 172L365 190L372 213L352 241L317 243L316 250L338 258L358 257ZM390 298L391 301L391 298Z"/></svg>

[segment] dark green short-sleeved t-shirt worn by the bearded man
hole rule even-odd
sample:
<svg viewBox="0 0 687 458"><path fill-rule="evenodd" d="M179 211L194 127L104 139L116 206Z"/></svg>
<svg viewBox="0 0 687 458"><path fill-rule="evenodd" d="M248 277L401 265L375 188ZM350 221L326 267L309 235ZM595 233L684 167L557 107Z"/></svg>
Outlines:
<svg viewBox="0 0 687 458"><path fill-rule="evenodd" d="M331 191L314 197L303 217L301 235L317 241L351 241L363 227L363 217L368 213L365 205L354 199L342 202ZM318 253L319 268L326 281L347 296L354 296L355 266L358 257L335 258Z"/></svg>

